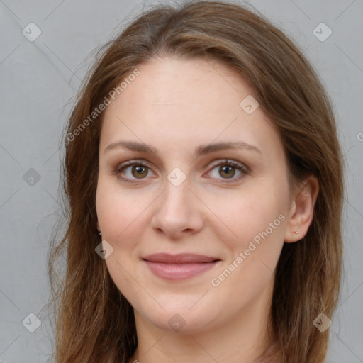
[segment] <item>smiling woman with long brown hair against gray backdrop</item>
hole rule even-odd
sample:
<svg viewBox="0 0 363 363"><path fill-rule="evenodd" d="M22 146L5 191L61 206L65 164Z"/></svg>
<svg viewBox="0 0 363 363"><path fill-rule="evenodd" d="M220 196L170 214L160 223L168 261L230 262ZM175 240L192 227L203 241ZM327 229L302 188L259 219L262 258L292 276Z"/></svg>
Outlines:
<svg viewBox="0 0 363 363"><path fill-rule="evenodd" d="M218 1L143 13L102 48L65 146L57 362L324 361L342 159L280 30Z"/></svg>

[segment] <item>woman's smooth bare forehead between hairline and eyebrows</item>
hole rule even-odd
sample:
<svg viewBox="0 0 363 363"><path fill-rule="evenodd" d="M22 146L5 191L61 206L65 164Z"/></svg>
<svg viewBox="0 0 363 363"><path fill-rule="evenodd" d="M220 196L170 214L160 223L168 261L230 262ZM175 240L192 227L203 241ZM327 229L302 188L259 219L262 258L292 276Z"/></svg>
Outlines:
<svg viewBox="0 0 363 363"><path fill-rule="evenodd" d="M281 152L264 113L241 108L253 91L235 70L212 60L177 58L152 59L137 69L138 77L106 108L101 147L120 138L169 148L248 140Z"/></svg>

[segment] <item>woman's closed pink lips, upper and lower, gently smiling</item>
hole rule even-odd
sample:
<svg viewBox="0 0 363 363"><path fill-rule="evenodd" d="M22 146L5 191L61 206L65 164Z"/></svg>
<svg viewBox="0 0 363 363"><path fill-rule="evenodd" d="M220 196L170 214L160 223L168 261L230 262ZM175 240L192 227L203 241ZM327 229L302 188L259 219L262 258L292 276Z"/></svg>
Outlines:
<svg viewBox="0 0 363 363"><path fill-rule="evenodd" d="M212 269L220 262L220 259L191 253L179 255L157 253L143 257L143 262L157 277L167 280L184 280Z"/></svg>

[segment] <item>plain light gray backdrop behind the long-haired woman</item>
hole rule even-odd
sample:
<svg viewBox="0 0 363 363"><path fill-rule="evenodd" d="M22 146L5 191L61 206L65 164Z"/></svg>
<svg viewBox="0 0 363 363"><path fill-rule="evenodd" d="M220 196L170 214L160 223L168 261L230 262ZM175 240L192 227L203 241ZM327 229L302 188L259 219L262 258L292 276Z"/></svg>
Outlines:
<svg viewBox="0 0 363 363"><path fill-rule="evenodd" d="M326 362L363 362L363 1L250 4L305 49L335 105L347 162L345 273ZM0 0L0 362L48 359L46 258L59 213L62 130L91 51L147 7L144 1ZM33 42L22 34L31 22L42 32ZM325 41L313 33L321 22L333 31ZM34 333L22 324L29 313L42 321Z"/></svg>

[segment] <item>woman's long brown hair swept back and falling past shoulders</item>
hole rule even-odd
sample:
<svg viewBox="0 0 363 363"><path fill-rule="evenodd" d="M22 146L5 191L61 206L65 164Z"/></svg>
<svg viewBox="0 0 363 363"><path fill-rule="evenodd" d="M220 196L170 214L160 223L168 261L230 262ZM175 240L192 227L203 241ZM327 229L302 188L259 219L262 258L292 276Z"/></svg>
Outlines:
<svg viewBox="0 0 363 363"><path fill-rule="evenodd" d="M99 50L79 92L65 138L67 230L59 243L52 240L49 260L56 361L126 363L138 344L133 308L94 250L100 242L95 201L103 113L79 127L127 74L156 56L210 58L237 70L279 130L291 180L318 178L308 233L281 251L268 328L279 362L323 362L329 330L320 333L313 320L320 313L332 317L342 268L342 157L332 106L313 67L281 30L256 11L220 1L162 5L141 14ZM58 280L55 262L63 252L67 270Z"/></svg>

